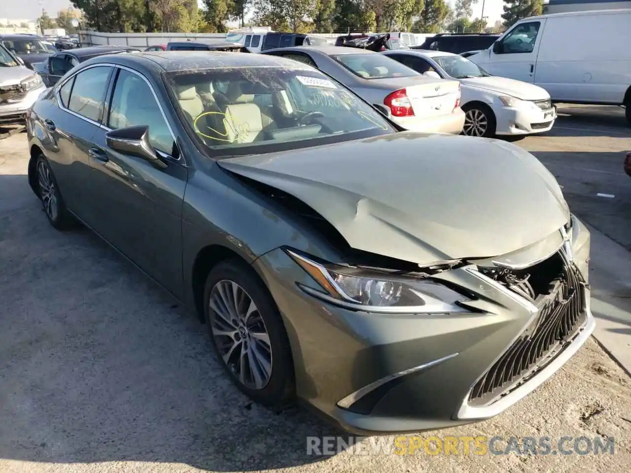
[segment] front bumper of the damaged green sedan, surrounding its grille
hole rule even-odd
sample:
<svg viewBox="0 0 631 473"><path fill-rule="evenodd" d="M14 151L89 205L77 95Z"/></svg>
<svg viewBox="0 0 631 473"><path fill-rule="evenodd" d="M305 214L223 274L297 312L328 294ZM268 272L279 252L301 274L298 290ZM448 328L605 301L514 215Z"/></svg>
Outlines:
<svg viewBox="0 0 631 473"><path fill-rule="evenodd" d="M461 267L435 277L476 294L478 310L446 315L357 312L299 289L295 283L318 286L283 250L263 255L254 267L285 322L298 397L342 428L372 435L487 419L550 378L594 330L588 255L587 232L574 248L575 266L584 279L580 327L550 357L552 361L540 362L525 382L483 405L470 402L473 387L538 313L524 298L500 284L484 284L468 267Z"/></svg>

